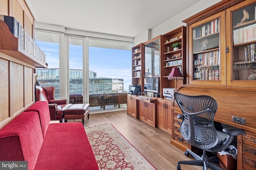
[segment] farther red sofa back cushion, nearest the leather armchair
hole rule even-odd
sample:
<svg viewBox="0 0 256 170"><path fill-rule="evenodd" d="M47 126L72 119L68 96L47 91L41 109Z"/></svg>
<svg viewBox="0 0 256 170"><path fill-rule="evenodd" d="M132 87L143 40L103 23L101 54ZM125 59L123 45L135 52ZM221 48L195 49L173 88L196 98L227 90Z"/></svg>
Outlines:
<svg viewBox="0 0 256 170"><path fill-rule="evenodd" d="M46 101L38 101L32 106L28 107L25 111L36 111L40 118L40 123L42 127L43 137L46 134L48 125L50 123L50 112Z"/></svg>

